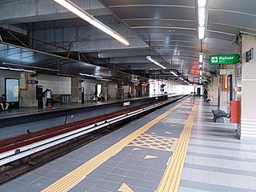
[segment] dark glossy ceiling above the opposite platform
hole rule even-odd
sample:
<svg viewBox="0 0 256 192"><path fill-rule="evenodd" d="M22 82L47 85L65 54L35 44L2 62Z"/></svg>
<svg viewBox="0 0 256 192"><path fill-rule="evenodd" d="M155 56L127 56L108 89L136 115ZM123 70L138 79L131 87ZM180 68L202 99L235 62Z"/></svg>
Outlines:
<svg viewBox="0 0 256 192"><path fill-rule="evenodd" d="M127 74L118 70L111 70L102 66L95 66L74 59L47 54L38 50L31 50L22 46L8 43L0 44L0 67L4 70L30 70L31 74L55 74L67 77L98 78L102 81L146 81L146 78ZM34 72L35 71L35 72ZM78 74L82 75L78 75ZM88 76L84 74L89 74ZM94 74L95 77L90 77Z"/></svg>

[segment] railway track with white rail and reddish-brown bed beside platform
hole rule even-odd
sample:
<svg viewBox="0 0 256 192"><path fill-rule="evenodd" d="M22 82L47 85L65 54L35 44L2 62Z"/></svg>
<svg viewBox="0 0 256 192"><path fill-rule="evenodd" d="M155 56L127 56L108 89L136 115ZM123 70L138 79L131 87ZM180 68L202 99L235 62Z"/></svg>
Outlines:
<svg viewBox="0 0 256 192"><path fill-rule="evenodd" d="M78 122L3 139L0 141L0 184L181 98L183 97L179 96L170 98L165 102L151 102L126 110L102 114L94 118L86 118Z"/></svg>

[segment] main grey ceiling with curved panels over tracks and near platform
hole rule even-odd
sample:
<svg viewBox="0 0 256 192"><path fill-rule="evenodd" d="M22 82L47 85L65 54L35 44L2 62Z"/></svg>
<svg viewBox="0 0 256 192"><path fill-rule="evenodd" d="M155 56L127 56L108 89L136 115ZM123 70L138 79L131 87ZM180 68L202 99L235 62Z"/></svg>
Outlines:
<svg viewBox="0 0 256 192"><path fill-rule="evenodd" d="M130 41L130 46L95 29L53 0L34 1L28 7L29 2L1 1L0 12L5 14L0 18L0 25L30 36L26 43L30 48L52 54L66 50L86 54L87 62L102 69L109 67L148 78L174 78L170 70L175 69L191 82L198 81L201 42L197 38L193 0L72 0L122 34ZM202 40L204 79L210 78L210 71L216 70L216 66L209 65L210 54L239 54L238 34L256 34L255 8L254 0L208 0L208 25L206 38ZM147 55L161 62L167 70L148 61ZM67 62L66 65L72 64ZM54 63L48 66L60 67Z"/></svg>

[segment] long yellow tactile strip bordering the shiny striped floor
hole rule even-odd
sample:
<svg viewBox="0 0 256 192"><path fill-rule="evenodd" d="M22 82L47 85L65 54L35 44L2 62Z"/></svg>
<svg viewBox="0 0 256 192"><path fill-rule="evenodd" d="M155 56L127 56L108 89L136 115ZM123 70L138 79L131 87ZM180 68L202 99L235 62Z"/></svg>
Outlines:
<svg viewBox="0 0 256 192"><path fill-rule="evenodd" d="M182 130L182 134L178 139L178 144L169 164L166 167L166 171L162 176L162 180L158 186L158 192L176 192L178 191L179 182L182 176L182 169L186 158L186 150L188 142L190 140L190 133L194 122L194 114L197 109L198 102L194 104L190 117L186 121L186 125Z"/></svg>

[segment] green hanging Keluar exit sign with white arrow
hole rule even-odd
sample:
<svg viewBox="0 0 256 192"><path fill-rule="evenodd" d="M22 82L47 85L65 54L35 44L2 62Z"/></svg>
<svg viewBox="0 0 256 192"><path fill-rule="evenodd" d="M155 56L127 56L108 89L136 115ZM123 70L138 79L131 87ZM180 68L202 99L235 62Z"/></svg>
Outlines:
<svg viewBox="0 0 256 192"><path fill-rule="evenodd" d="M239 54L218 54L210 55L209 63L210 65L219 64L236 64L240 62Z"/></svg>

